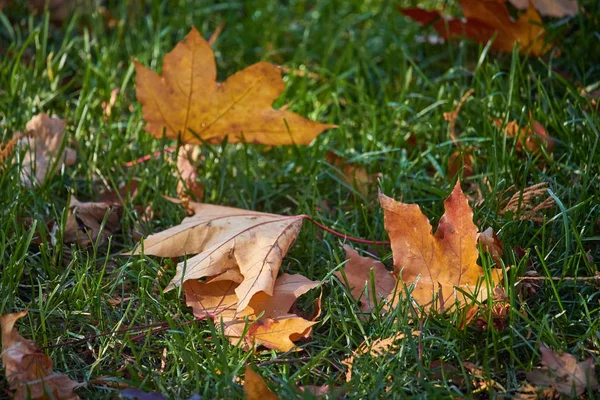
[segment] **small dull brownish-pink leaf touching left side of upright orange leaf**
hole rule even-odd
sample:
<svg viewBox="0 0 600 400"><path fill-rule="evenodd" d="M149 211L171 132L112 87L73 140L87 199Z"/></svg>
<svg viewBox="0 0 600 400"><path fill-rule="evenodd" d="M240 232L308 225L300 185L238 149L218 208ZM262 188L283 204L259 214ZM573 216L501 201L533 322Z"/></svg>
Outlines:
<svg viewBox="0 0 600 400"><path fill-rule="evenodd" d="M350 293L360 302L360 309L365 313L372 313L376 307L394 292L397 279L389 272L383 263L371 257L361 257L358 252L348 245L344 245L346 251L346 264L344 265L344 276L340 271L334 275L342 282L348 282ZM371 271L375 282L371 281ZM372 293L375 287L376 293ZM388 306L383 305L383 310Z"/></svg>

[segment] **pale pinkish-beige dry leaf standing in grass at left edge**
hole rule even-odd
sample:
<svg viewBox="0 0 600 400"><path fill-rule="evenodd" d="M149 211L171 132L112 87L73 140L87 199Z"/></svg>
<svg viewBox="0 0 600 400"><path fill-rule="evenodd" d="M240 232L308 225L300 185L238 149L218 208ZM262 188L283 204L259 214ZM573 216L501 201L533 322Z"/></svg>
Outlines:
<svg viewBox="0 0 600 400"><path fill-rule="evenodd" d="M60 161L61 144L65 121L38 114L25 126L27 135L19 142L26 149L21 171L21 182L31 187L41 184L62 165L73 165L77 157L75 150L65 147Z"/></svg>

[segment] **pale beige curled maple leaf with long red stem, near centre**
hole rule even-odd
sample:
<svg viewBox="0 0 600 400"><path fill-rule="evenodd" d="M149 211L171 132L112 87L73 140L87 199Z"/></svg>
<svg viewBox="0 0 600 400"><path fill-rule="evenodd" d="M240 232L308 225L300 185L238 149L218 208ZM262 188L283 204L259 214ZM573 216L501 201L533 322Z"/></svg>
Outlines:
<svg viewBox="0 0 600 400"><path fill-rule="evenodd" d="M177 265L177 273L165 290L187 280L234 270L243 277L235 288L238 312L259 292L272 296L281 260L296 239L304 216L266 214L194 202L189 203L189 208L195 212L194 216L150 235L143 247L133 253L143 251L160 257L197 254Z"/></svg>

